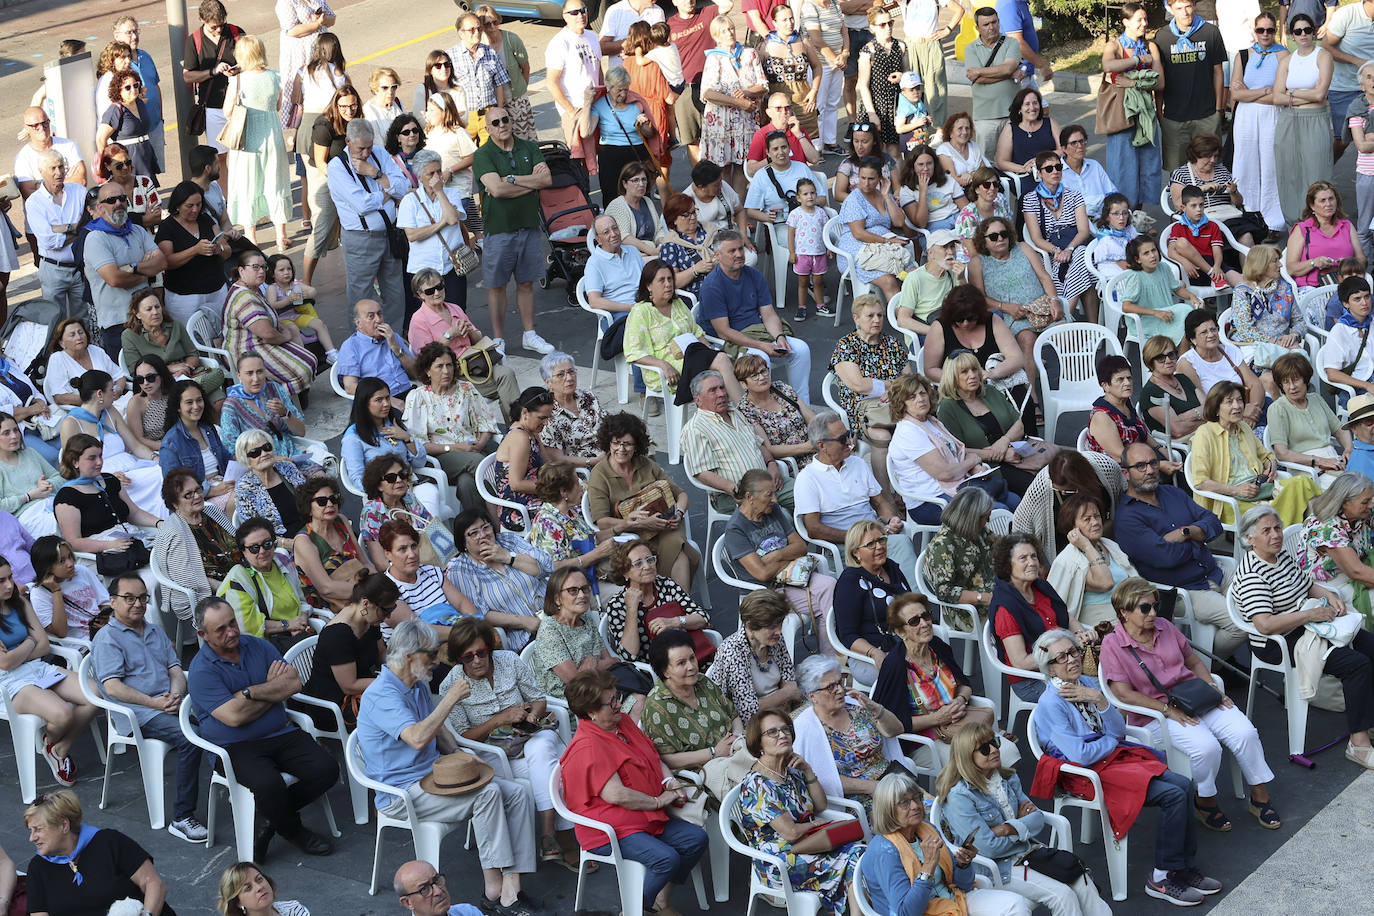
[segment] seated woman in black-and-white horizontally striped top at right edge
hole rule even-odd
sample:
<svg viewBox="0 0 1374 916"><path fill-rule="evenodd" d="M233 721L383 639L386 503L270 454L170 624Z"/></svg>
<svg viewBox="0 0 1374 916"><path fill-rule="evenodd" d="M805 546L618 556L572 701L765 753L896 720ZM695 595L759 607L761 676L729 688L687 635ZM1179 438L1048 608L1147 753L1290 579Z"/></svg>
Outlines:
<svg viewBox="0 0 1374 916"><path fill-rule="evenodd" d="M1341 479L1348 477L1363 478L1363 485L1370 485L1363 474L1348 471ZM1367 503L1366 499L1366 514ZM1246 553L1235 567L1231 593L1241 614L1260 633L1250 636L1250 651L1256 658L1278 662L1276 639L1285 640L1289 654L1297 658L1309 651L1304 645L1309 623L1320 626L1348 615L1351 606L1331 589L1318 585L1312 570L1300 566L1283 549L1283 522L1272 507L1256 505L1242 515L1237 538L1245 545ZM1322 651L1320 647L1316 648L1319 655ZM1356 628L1349 645L1333 647L1320 666L1300 665L1300 689L1312 695L1316 692L1316 678L1305 672L1330 674L1341 681L1345 726L1351 733L1345 758L1374 769L1374 748L1370 747L1370 729L1374 728L1374 633Z"/></svg>

